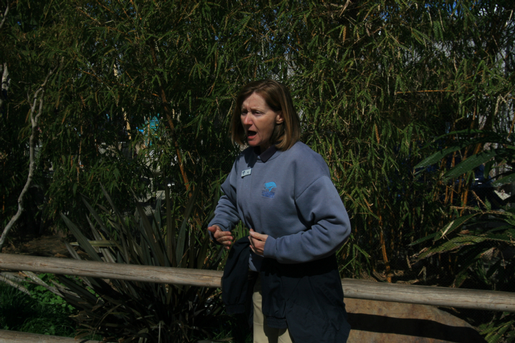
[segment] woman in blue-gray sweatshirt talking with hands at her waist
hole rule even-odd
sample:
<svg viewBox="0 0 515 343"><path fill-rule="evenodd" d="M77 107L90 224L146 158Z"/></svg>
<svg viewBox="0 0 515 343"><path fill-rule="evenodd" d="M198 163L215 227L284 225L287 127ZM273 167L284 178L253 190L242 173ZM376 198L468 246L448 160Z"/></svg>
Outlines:
<svg viewBox="0 0 515 343"><path fill-rule="evenodd" d="M345 342L350 326L335 252L350 235L349 217L327 164L299 141L286 87L273 80L244 86L231 137L249 147L222 184L208 230L229 249L233 226L241 220L250 228L249 268L244 263L259 274L254 342ZM240 272L236 277L247 280Z"/></svg>

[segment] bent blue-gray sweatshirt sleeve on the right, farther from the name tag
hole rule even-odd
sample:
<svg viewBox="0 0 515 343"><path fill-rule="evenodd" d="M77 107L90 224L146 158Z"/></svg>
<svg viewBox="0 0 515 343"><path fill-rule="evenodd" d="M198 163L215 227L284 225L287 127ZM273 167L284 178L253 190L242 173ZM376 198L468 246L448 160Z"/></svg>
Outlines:
<svg viewBox="0 0 515 343"><path fill-rule="evenodd" d="M327 257L350 235L350 220L328 176L314 180L295 200L306 230L292 235L269 236L264 257L279 263L302 263Z"/></svg>

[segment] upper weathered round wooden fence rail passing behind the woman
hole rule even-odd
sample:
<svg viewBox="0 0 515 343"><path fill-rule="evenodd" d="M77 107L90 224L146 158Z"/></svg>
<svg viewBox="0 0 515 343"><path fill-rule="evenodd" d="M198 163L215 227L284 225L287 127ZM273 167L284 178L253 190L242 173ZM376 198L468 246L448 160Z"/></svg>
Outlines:
<svg viewBox="0 0 515 343"><path fill-rule="evenodd" d="M0 269L200 287L221 287L222 279L222 272L216 270L165 268L1 253ZM511 292L400 285L358 279L343 279L342 287L346 298L515 312L515 293Z"/></svg>

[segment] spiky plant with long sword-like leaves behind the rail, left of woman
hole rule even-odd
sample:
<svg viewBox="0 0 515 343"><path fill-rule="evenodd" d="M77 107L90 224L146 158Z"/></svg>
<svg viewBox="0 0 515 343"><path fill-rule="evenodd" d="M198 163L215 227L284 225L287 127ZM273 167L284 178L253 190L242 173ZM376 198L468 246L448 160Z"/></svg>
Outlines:
<svg viewBox="0 0 515 343"><path fill-rule="evenodd" d="M139 204L134 215L122 215L115 208L100 214L87 206L93 217L93 222L88 220L92 240L62 217L89 259L216 269L222 255L212 251L205 223L194 217L197 195L192 192L178 232L168 191L164 215L159 201L151 215ZM81 309L78 320L87 333L142 342L188 342L195 335L209 336L208 328L221 318L216 289L91 278L66 278L63 283L73 292L69 301Z"/></svg>

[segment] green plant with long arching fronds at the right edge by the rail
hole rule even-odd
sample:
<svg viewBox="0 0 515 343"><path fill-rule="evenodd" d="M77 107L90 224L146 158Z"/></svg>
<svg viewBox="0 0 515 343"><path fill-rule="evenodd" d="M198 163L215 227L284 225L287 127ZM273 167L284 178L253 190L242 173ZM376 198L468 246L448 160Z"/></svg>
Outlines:
<svg viewBox="0 0 515 343"><path fill-rule="evenodd" d="M515 283L515 209L513 196L499 201L483 196L472 187L474 177L483 172L484 182L494 187L510 185L515 180L515 143L510 132L461 130L435 139L452 138L446 148L431 154L415 166L422 174L435 164L446 165L451 158L456 165L443 168L439 180L451 185L463 182L470 189L468 206L455 206L455 215L431 235L413 246L421 247L417 261L435 264L435 276L450 280L452 287L491 289L513 292ZM511 188L511 186L510 186ZM490 200L489 200L490 199ZM431 259L438 263L431 263ZM437 269L436 269L437 268ZM441 281L440 281L441 282ZM489 320L485 320L489 318ZM515 314L496 312L472 320L488 342L512 342L515 336Z"/></svg>

